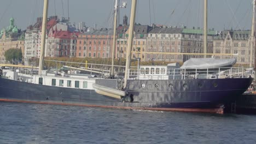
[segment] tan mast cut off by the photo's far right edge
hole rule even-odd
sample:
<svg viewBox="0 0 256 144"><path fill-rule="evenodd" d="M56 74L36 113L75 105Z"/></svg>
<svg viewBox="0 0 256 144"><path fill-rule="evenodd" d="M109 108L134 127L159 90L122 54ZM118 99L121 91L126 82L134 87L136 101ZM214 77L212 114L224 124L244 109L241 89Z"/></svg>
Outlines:
<svg viewBox="0 0 256 144"><path fill-rule="evenodd" d="M255 42L254 41L255 9L256 9L256 0L253 1L253 17L252 17L252 31L251 31L251 50L250 50L250 67L252 67L252 62L253 62L253 43ZM254 59L254 61L255 61L255 59ZM254 62L254 65L255 65L255 62ZM254 68L255 68L255 66L254 66Z"/></svg>

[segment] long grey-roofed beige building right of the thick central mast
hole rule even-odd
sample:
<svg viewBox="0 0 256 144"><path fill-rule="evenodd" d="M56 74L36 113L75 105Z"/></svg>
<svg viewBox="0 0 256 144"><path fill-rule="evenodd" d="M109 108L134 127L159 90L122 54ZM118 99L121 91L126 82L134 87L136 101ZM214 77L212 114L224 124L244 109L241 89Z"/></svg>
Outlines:
<svg viewBox="0 0 256 144"><path fill-rule="evenodd" d="M207 52L204 52L202 29L195 29L195 27L154 27L152 31L148 33L147 51L171 53L212 53L214 35L216 35L215 31L208 31ZM199 58L203 56L148 53L146 57L146 61L185 62L191 57Z"/></svg>

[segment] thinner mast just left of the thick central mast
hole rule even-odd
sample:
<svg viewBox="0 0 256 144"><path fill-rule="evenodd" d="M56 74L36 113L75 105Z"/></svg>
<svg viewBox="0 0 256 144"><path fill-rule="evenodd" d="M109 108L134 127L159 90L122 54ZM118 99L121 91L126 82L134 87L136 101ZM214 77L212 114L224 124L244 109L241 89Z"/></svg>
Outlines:
<svg viewBox="0 0 256 144"><path fill-rule="evenodd" d="M115 17L114 17L114 33L113 33L113 45L112 45L112 65L111 65L111 75L114 77L114 57L115 57L115 41L117 35L117 13L118 13L118 0L115 0Z"/></svg>

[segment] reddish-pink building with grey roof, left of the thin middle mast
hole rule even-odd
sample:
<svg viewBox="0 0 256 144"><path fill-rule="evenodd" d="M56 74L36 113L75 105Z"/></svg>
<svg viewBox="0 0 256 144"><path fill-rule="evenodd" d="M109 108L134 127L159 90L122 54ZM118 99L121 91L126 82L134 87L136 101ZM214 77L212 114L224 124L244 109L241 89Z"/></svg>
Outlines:
<svg viewBox="0 0 256 144"><path fill-rule="evenodd" d="M77 38L77 57L108 58L112 53L113 30L101 28L80 33Z"/></svg>

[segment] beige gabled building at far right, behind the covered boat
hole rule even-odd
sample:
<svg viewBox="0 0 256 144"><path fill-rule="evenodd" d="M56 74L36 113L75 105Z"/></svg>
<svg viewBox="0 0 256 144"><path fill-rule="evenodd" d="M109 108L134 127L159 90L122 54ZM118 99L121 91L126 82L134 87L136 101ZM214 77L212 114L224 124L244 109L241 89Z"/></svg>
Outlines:
<svg viewBox="0 0 256 144"><path fill-rule="evenodd" d="M251 49L251 31L223 31L213 40L213 53L238 53L237 56L214 56L217 59L237 59L238 64L249 64ZM254 50L253 50L254 57ZM253 60L254 61L254 60Z"/></svg>

